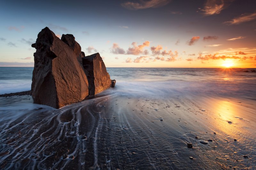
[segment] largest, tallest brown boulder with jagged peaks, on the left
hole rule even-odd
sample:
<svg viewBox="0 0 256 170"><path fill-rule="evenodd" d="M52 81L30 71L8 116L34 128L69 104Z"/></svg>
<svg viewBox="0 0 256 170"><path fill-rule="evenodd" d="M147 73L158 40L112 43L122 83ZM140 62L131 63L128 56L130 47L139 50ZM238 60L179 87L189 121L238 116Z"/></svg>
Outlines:
<svg viewBox="0 0 256 170"><path fill-rule="evenodd" d="M48 27L39 32L34 53L32 96L35 103L60 108L89 95L80 45L71 34L60 40Z"/></svg>

